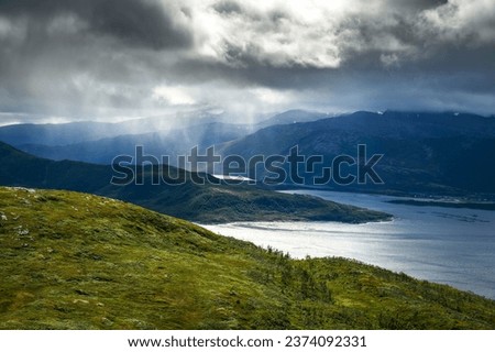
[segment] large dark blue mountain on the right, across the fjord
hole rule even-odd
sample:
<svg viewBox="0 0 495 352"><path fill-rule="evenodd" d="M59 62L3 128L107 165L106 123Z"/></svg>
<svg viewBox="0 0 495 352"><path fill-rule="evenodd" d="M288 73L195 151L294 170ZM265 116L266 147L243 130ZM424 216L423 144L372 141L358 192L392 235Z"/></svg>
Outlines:
<svg viewBox="0 0 495 352"><path fill-rule="evenodd" d="M375 170L384 185L345 186L354 190L395 193L465 194L495 193L495 119L458 113L356 112L315 122L275 125L218 147L220 154L288 155L297 145L306 157L321 155L324 166L336 156L355 157L358 145L369 157L384 156ZM287 165L285 168L288 169ZM355 175L355 165L349 167ZM312 186L312 175L299 174ZM321 165L316 166L321 175ZM346 170L343 173L346 174ZM266 172L258 170L258 179ZM329 182L327 186L337 187Z"/></svg>

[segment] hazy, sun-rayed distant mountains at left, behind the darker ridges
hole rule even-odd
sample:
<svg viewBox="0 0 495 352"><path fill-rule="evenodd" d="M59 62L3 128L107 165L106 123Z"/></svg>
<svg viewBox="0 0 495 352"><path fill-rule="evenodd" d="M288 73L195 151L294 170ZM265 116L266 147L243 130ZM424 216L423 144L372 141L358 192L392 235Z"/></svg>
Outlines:
<svg viewBox="0 0 495 352"><path fill-rule="evenodd" d="M208 113L118 123L15 124L0 127L0 141L55 161L72 160L107 165L117 155L134 155L135 145L143 145L147 154L158 158L166 155L170 165L179 166L177 156L187 155L195 146L206 148L240 139L261 128L314 121L323 117L328 114L289 110L251 124L229 123L232 119L224 114Z"/></svg>

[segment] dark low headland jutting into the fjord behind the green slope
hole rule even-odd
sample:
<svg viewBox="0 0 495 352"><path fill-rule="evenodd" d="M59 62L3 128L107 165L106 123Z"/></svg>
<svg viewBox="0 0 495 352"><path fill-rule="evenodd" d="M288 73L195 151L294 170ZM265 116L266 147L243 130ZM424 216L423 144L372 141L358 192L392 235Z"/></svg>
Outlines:
<svg viewBox="0 0 495 352"><path fill-rule="evenodd" d="M144 185L113 186L111 166L80 162L54 162L21 152L0 142L0 185L67 189L90 193L146 207L202 223L272 220L328 220L366 222L387 220L389 215L339 205L309 196L294 196L248 185L198 185L191 173L175 167L140 168ZM158 168L164 177L183 185L152 185ZM198 174L194 175L198 176ZM205 175L204 175L205 176Z"/></svg>

